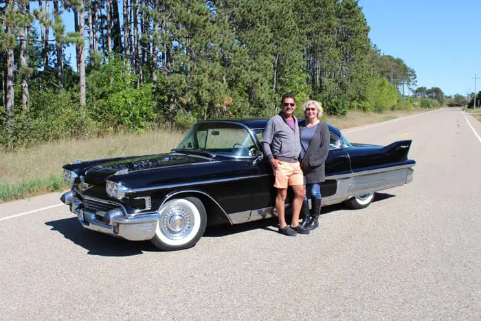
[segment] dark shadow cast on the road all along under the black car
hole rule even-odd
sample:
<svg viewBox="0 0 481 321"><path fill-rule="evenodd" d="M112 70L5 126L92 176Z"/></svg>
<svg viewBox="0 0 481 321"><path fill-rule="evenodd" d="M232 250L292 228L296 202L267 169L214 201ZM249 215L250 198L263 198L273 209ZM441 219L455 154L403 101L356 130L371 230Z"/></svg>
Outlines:
<svg viewBox="0 0 481 321"><path fill-rule="evenodd" d="M390 199L395 195L387 193L376 193L373 202L383 201ZM346 206L342 203L334 204L331 206L322 207L322 214L335 212L336 210L345 210ZM291 221L289 215L287 215L287 221ZM131 256L143 254L143 252L160 252L149 241L127 241L124 239L118 239L106 234L85 230L82 228L76 217L69 219L59 219L56 221L46 222L45 225L51 226L52 231L63 234L65 239L69 239L76 245L79 245L88 251L89 255L100 256ZM248 222L238 225L219 225L212 226L205 230L203 237L221 237L232 234L238 234L248 232L250 230L262 229L270 232L278 232L278 219L272 217L271 219L263 219L260 221Z"/></svg>

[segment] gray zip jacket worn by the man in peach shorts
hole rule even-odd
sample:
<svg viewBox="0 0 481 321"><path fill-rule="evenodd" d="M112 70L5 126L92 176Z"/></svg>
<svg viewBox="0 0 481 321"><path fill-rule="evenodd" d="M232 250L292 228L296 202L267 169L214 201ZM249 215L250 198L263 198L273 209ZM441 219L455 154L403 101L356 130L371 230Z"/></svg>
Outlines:
<svg viewBox="0 0 481 321"><path fill-rule="evenodd" d="M282 113L273 116L265 125L260 144L267 157L279 159L283 162L294 163L298 161L301 145L298 120L294 119L294 129L287 124Z"/></svg>

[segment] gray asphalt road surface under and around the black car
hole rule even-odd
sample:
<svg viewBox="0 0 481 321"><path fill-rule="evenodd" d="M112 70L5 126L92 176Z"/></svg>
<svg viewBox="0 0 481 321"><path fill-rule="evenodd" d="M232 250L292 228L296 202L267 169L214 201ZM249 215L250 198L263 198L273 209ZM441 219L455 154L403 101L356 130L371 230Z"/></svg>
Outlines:
<svg viewBox="0 0 481 321"><path fill-rule="evenodd" d="M60 193L0 204L0 319L479 320L481 138L467 120L481 135L455 109L345 131L412 139L414 181L364 210L324 208L309 236L270 220L158 252L84 230Z"/></svg>

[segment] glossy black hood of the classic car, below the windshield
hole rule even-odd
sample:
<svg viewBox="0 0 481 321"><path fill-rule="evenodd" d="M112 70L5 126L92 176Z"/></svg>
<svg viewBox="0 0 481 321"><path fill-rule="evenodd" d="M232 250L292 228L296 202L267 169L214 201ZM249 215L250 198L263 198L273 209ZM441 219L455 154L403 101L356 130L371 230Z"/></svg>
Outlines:
<svg viewBox="0 0 481 321"><path fill-rule="evenodd" d="M125 157L107 161L102 164L88 168L85 172L85 181L87 183L100 183L107 177L125 170L123 174L135 172L138 170L148 170L155 168L165 168L168 166L183 166L188 164L198 164L203 162L212 162L213 159L198 155L186 155L181 153L166 153L157 155L144 155Z"/></svg>

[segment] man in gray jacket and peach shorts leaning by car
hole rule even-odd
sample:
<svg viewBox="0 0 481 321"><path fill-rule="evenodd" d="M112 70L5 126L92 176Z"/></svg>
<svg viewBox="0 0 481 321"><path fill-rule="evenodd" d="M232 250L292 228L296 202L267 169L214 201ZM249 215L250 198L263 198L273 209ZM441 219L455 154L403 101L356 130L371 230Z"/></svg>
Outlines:
<svg viewBox="0 0 481 321"><path fill-rule="evenodd" d="M301 145L298 121L293 115L294 96L289 93L282 96L280 107L282 111L267 122L260 142L276 177L274 187L277 188L276 210L279 218L279 232L288 236L295 236L298 233L309 234L309 230L299 225L299 213L306 191L304 176L298 161ZM294 191L291 226L287 225L285 218L288 186L291 186Z"/></svg>

